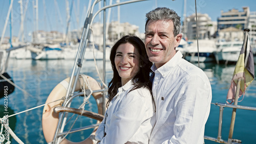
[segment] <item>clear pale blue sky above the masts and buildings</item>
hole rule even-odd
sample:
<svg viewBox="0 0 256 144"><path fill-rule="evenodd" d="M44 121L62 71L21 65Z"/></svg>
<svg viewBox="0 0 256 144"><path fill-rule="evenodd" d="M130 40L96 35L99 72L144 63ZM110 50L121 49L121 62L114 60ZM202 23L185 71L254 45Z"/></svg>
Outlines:
<svg viewBox="0 0 256 144"><path fill-rule="evenodd" d="M12 33L13 36L20 37L20 5L19 0L13 0L12 11ZM54 3L56 1L56 4ZM125 2L127 0L120 0ZM27 3L28 2L28 3ZM69 30L80 29L83 27L84 19L88 10L90 0L68 0L69 8L73 3L71 11L71 20ZM93 1L92 1L93 2ZM106 0L106 5L109 5L111 0ZM34 0L23 0L23 11L25 11L27 3L27 11L24 19L24 35L25 41L31 40L31 33L35 30L35 12L33 9ZM115 4L116 0L112 1ZM197 0L197 13L208 14L212 21L217 21L217 18L221 16L221 11L227 12L231 9L238 9L243 11L243 7L249 7L250 11L256 11L255 0ZM10 6L10 0L0 0L0 36L4 31L8 9ZM95 6L94 13L103 6L103 2ZM139 31L144 33L145 14L156 7L167 7L173 9L184 18L184 0L148 0L143 2L137 2L133 4L127 4L120 6L120 22L129 22L132 25L139 26ZM106 11L108 16L109 10ZM186 0L186 16L195 13L195 1ZM25 14L25 12L23 12ZM59 31L66 33L67 29L67 5L64 0L38 0L38 30L44 31ZM113 7L110 12L110 21L117 21L118 10L117 7ZM98 14L94 19L94 22L102 22L102 13ZM7 22L6 31L4 36L10 36L10 25Z"/></svg>

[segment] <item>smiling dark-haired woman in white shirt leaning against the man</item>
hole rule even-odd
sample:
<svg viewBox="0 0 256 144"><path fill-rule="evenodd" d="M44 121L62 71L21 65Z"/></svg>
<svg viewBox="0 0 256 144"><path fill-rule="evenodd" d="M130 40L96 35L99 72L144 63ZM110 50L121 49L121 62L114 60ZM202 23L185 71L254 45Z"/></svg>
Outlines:
<svg viewBox="0 0 256 144"><path fill-rule="evenodd" d="M136 36L122 37L112 47L110 61L114 76L96 140L100 144L148 143L155 125L155 104L150 81L152 62L144 43Z"/></svg>

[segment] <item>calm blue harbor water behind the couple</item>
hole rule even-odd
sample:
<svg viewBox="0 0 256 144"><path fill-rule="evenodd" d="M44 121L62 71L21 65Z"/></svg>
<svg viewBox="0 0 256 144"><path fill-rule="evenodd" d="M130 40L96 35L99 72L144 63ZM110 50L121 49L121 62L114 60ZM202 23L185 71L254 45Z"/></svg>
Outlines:
<svg viewBox="0 0 256 144"><path fill-rule="evenodd" d="M16 87L15 91L8 95L8 107L14 113L24 111L35 106L45 104L45 101L51 90L63 79L71 76L73 60L16 60L10 59L8 74L13 78L14 83L22 90ZM102 73L102 61L97 61L100 73ZM106 63L106 80L109 82L112 77L110 62ZM233 75L235 65L217 65L215 63L200 64L205 71L212 86L212 102L225 103L226 94L230 86L230 80ZM89 61L83 63L81 73L94 77L97 81L97 73L94 62ZM76 98L73 105L82 102L82 98ZM97 112L96 104L91 99L91 104L86 105L86 109ZM256 81L253 81L247 88L244 100L239 105L256 107ZM0 105L4 104L4 99L0 99ZM15 124L14 133L24 143L46 143L41 128L42 109L34 109L15 116L16 121L10 123ZM11 111L10 110L10 111ZM224 109L222 138L228 139L228 131L230 127L232 109ZM72 125L68 124L68 127ZM236 123L234 125L233 138L242 140L243 143L255 143L256 141L256 111L237 110ZM208 118L205 135L217 137L219 122L219 107L211 105L210 116ZM75 124L75 128L87 126L96 123L90 118L79 117ZM87 138L92 130L79 132L78 134L70 134L67 136L72 141L80 141ZM12 143L17 143L12 139ZM205 140L206 144L216 143Z"/></svg>

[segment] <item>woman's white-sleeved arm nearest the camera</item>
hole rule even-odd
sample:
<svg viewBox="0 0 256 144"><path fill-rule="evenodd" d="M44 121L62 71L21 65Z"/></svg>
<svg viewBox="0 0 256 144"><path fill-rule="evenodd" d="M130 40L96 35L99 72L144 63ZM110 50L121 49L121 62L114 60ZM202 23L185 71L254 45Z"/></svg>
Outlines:
<svg viewBox="0 0 256 144"><path fill-rule="evenodd" d="M105 137L100 143L126 143L138 130L143 122L145 106L143 97L135 92L129 92L123 97L111 118ZM112 105L113 106L113 105Z"/></svg>

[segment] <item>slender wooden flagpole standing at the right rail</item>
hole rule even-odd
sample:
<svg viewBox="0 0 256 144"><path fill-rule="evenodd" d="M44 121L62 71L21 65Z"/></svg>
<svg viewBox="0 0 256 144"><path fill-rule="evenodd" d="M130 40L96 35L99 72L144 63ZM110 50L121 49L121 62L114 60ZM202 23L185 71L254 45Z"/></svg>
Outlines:
<svg viewBox="0 0 256 144"><path fill-rule="evenodd" d="M250 30L249 29L244 29L244 32L245 32L245 36L244 36L244 43L243 43L243 49L245 51L246 49L246 41L247 41L247 36L248 36L248 32ZM246 65L244 65L246 66ZM237 82L237 89L236 89L236 95L234 97L234 105L237 106L238 105L238 99L239 99L239 91L240 91L240 85L241 85L241 80L242 78L239 78L238 79L238 82ZM228 135L228 144L231 144L232 143L232 136L233 136L233 130L234 130L234 121L236 119L236 114L237 114L237 109L236 108L233 108L233 111L232 111L232 117L231 117L231 123L230 123L230 129L229 129L229 135Z"/></svg>

